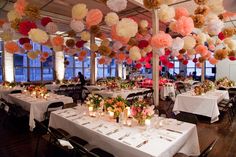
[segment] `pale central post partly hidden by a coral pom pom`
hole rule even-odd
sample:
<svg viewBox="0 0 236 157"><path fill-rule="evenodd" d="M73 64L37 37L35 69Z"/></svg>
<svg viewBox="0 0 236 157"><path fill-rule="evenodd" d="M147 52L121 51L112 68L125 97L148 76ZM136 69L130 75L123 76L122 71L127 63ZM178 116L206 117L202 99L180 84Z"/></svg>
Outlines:
<svg viewBox="0 0 236 157"><path fill-rule="evenodd" d="M159 31L159 19L157 10L152 11L152 34L153 36ZM159 49L153 48L153 67L152 67L152 80L153 80L153 97L154 97L154 105L159 105Z"/></svg>

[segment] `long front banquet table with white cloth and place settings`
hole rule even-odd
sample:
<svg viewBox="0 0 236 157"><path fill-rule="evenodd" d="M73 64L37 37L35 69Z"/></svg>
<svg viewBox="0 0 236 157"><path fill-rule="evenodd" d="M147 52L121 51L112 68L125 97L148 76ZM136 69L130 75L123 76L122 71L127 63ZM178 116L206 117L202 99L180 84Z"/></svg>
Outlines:
<svg viewBox="0 0 236 157"><path fill-rule="evenodd" d="M62 128L116 157L172 157L177 152L193 156L200 154L194 124L155 117L152 123L159 119L159 124L163 125L145 130L138 126L121 126L105 117L89 117L81 108L52 112L49 126ZM147 140L146 144L138 147Z"/></svg>

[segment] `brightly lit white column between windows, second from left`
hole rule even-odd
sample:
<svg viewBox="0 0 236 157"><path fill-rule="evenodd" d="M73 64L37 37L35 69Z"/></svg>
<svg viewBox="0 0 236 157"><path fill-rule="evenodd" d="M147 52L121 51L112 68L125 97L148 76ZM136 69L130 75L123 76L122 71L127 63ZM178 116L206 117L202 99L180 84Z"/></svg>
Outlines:
<svg viewBox="0 0 236 157"><path fill-rule="evenodd" d="M55 52L55 72L56 79L62 81L65 76L64 52Z"/></svg>

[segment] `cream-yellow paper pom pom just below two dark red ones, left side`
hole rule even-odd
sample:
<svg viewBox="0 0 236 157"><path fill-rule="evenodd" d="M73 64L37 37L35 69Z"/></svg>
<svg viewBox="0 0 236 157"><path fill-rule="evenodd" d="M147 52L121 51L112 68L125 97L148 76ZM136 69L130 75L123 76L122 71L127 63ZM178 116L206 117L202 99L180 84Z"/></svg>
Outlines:
<svg viewBox="0 0 236 157"><path fill-rule="evenodd" d="M41 29L34 29L33 28L29 31L28 34L29 34L29 38L33 42L37 42L37 43L45 43L49 39L47 33Z"/></svg>

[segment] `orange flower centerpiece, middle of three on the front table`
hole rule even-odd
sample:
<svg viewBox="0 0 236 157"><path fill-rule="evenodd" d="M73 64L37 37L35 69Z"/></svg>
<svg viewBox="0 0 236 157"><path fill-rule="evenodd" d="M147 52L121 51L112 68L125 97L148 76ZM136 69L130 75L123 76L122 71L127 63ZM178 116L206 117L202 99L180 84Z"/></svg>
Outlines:
<svg viewBox="0 0 236 157"><path fill-rule="evenodd" d="M118 96L116 98L106 99L104 105L106 110L108 112L114 112L114 118L117 118L124 111L126 106L128 106L128 102L121 96Z"/></svg>

